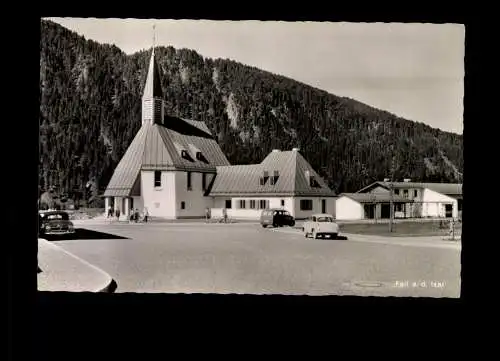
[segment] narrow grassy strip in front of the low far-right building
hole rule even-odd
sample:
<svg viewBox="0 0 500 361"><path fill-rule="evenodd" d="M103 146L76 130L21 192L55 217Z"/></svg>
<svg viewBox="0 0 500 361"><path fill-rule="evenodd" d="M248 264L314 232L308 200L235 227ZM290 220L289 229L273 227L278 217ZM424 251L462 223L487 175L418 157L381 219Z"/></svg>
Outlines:
<svg viewBox="0 0 500 361"><path fill-rule="evenodd" d="M439 227L439 222L398 222L393 224L393 232L389 232L388 223L365 223L355 224L346 223L340 225L340 231L343 233L367 234L379 236L446 236L449 231L449 226L442 229ZM455 224L455 236L462 232L462 224Z"/></svg>

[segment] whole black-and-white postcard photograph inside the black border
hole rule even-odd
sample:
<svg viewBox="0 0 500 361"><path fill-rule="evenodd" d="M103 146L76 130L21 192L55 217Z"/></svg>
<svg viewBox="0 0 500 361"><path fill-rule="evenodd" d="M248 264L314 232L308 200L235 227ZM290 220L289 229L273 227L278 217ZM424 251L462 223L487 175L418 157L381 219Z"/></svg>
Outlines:
<svg viewBox="0 0 500 361"><path fill-rule="evenodd" d="M464 25L40 27L38 291L460 298Z"/></svg>

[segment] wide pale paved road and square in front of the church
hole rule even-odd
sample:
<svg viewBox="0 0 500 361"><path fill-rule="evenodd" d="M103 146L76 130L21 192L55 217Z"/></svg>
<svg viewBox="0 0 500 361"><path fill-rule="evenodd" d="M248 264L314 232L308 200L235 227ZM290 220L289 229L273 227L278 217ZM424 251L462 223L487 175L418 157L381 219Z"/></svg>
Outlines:
<svg viewBox="0 0 500 361"><path fill-rule="evenodd" d="M109 273L116 292L460 296L460 247L439 240L313 240L254 224L85 228L56 242Z"/></svg>

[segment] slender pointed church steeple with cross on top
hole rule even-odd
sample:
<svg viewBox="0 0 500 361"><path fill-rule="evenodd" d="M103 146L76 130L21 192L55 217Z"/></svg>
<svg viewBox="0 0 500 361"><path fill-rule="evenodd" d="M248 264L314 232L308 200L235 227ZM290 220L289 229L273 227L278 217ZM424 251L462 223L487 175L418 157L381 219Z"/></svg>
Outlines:
<svg viewBox="0 0 500 361"><path fill-rule="evenodd" d="M160 70L155 58L155 39L153 26L153 49L149 59L148 74L142 94L142 124L161 124L164 115L163 90L161 88Z"/></svg>

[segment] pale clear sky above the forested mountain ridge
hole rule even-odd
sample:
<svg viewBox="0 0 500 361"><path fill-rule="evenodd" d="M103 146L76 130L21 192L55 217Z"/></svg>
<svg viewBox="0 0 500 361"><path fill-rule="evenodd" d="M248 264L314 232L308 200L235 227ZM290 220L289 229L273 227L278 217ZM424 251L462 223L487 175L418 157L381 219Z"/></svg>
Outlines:
<svg viewBox="0 0 500 361"><path fill-rule="evenodd" d="M127 54L196 50L462 134L461 24L47 18ZM153 25L155 31L153 32Z"/></svg>

